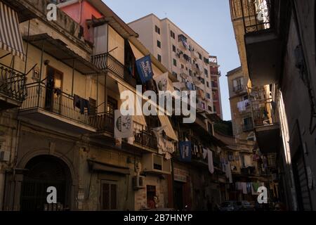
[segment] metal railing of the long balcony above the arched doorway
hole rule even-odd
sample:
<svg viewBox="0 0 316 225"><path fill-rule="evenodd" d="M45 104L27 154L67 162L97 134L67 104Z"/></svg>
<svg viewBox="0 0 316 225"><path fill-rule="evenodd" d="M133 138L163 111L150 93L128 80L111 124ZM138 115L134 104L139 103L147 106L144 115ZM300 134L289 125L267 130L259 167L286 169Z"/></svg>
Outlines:
<svg viewBox="0 0 316 225"><path fill-rule="evenodd" d="M48 89L44 83L29 84L26 87L27 98L22 103L20 111L42 109L69 120L91 126L98 131L114 131L114 116L107 113L96 113L96 110L80 112L74 107L74 96L60 89Z"/></svg>

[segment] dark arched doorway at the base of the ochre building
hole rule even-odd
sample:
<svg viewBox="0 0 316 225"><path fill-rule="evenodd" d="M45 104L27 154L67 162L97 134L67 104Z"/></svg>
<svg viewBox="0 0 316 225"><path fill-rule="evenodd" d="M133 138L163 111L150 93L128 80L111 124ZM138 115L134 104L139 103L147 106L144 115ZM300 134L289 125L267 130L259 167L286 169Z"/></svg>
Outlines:
<svg viewBox="0 0 316 225"><path fill-rule="evenodd" d="M70 207L72 179L65 162L51 155L40 155L29 160L25 169L27 170L22 181L20 210L66 210ZM58 205L47 204L49 193L46 191L50 186L57 190Z"/></svg>

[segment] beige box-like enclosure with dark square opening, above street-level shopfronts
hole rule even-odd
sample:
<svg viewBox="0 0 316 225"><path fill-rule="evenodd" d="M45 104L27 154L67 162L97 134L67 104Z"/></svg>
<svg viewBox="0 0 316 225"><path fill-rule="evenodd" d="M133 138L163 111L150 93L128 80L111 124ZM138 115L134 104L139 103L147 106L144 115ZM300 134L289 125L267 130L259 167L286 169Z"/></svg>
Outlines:
<svg viewBox="0 0 316 225"><path fill-rule="evenodd" d="M171 174L171 160L166 160L162 155L149 153L143 155L143 172L157 174Z"/></svg>

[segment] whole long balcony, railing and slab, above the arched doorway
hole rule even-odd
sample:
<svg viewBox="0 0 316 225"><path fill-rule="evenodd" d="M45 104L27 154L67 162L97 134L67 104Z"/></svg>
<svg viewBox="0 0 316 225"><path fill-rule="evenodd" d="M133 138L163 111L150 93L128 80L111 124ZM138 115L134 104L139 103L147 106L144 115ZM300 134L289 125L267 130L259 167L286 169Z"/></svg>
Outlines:
<svg viewBox="0 0 316 225"><path fill-rule="evenodd" d="M32 120L45 127L54 127L87 134L96 131L114 131L114 117L96 113L96 109L84 110L74 107L74 97L58 89L48 89L45 84L29 84L27 98L22 103L19 117Z"/></svg>

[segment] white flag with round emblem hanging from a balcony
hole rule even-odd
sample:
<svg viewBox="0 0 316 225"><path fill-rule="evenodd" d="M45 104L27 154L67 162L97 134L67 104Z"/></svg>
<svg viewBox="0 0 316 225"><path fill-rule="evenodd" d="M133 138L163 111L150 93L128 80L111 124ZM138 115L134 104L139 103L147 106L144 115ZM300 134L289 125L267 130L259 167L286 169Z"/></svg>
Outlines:
<svg viewBox="0 0 316 225"><path fill-rule="evenodd" d="M128 139L133 137L133 118L121 115L120 110L114 112L114 138Z"/></svg>

